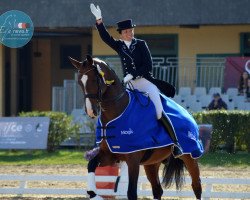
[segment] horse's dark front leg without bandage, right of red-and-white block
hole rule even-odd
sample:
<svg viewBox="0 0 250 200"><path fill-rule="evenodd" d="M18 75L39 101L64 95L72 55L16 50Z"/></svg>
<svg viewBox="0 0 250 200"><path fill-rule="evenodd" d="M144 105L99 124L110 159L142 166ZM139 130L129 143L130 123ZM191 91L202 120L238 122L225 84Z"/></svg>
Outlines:
<svg viewBox="0 0 250 200"><path fill-rule="evenodd" d="M138 163L133 163L133 161L127 162L128 165L128 199L129 200L137 200L137 182L140 171L140 165Z"/></svg>

